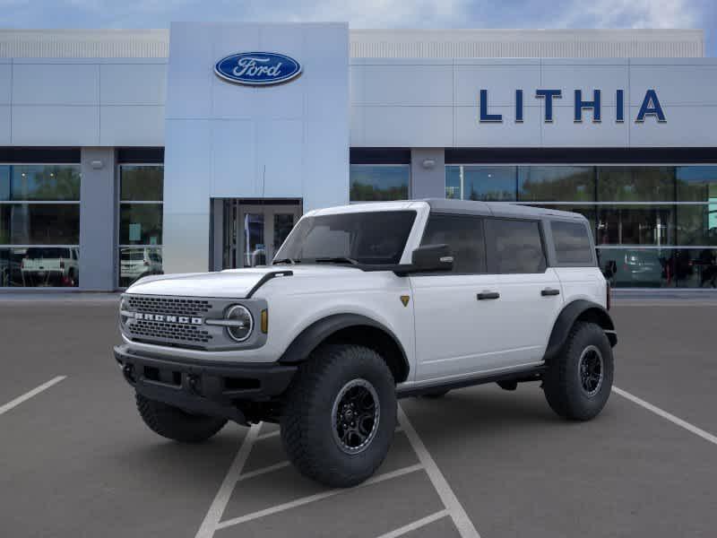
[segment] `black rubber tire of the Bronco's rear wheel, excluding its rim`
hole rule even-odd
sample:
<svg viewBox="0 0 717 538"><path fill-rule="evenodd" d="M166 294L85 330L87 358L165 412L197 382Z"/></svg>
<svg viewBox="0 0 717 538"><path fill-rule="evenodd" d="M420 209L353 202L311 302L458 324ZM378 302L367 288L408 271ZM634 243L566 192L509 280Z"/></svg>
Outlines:
<svg viewBox="0 0 717 538"><path fill-rule="evenodd" d="M595 346L602 355L602 381L596 394L583 390L579 363L583 351ZM563 350L550 360L543 377L548 404L558 415L571 421L589 421L602 411L612 390L614 361L608 337L599 325L576 322Z"/></svg>

